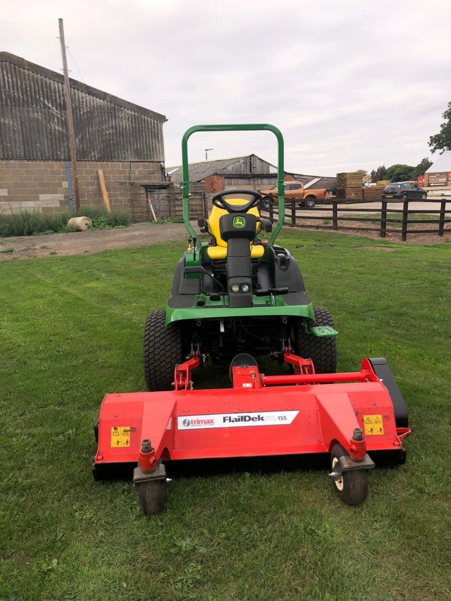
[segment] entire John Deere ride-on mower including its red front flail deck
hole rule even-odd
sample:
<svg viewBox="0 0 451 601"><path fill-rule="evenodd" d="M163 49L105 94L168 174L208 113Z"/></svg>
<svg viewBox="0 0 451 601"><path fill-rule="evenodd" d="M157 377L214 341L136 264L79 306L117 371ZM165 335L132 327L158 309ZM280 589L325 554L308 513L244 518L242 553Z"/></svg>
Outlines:
<svg viewBox="0 0 451 601"><path fill-rule="evenodd" d="M210 236L200 242L189 221L188 139L230 130L269 130L277 137L277 223L272 229L260 216L259 192L227 190L213 196L208 218L198 218L201 233ZM148 392L103 398L94 424L94 478L133 467L141 508L155 514L165 505L170 462L322 453L330 454L340 499L363 502L374 460L405 461L407 408L383 358L336 373L331 315L313 308L298 263L274 243L284 223L280 131L268 124L194 126L182 139L182 163L188 248L166 311L146 320ZM262 231L270 234L267 241L260 240ZM266 376L259 355L287 364L289 373ZM232 388L194 389L192 371L204 362L228 368Z"/></svg>

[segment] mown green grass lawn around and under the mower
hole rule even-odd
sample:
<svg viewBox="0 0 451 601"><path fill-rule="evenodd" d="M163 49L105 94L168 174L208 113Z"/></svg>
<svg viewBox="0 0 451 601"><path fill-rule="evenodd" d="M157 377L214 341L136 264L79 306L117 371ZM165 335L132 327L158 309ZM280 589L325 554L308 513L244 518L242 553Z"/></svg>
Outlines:
<svg viewBox="0 0 451 601"><path fill-rule="evenodd" d="M388 359L410 409L406 465L373 471L360 507L324 470L243 472L174 479L145 517L129 481L93 481L92 423L105 392L144 390L144 320L184 243L4 261L0 599L451 598L451 247L280 240L334 316L338 368Z"/></svg>

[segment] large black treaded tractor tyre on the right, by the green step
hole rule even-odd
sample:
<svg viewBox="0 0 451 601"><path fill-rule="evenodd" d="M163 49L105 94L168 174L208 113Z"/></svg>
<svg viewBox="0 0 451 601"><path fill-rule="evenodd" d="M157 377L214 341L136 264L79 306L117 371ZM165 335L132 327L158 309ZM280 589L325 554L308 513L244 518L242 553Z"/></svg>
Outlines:
<svg viewBox="0 0 451 601"><path fill-rule="evenodd" d="M314 321L307 320L308 326L331 326L334 322L327 309L314 308ZM304 359L313 361L314 371L317 374L335 373L337 368L337 344L334 336L319 338L305 332L302 319L293 322L295 353Z"/></svg>

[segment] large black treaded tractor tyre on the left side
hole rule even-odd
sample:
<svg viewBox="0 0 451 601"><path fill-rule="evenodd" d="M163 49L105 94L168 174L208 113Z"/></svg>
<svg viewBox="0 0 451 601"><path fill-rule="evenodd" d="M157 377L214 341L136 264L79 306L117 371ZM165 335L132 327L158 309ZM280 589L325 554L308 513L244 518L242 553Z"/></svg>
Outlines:
<svg viewBox="0 0 451 601"><path fill-rule="evenodd" d="M180 324L165 326L165 321L165 311L152 311L144 327L143 364L149 392L172 390L174 369L184 359Z"/></svg>

